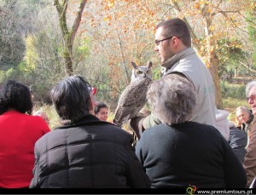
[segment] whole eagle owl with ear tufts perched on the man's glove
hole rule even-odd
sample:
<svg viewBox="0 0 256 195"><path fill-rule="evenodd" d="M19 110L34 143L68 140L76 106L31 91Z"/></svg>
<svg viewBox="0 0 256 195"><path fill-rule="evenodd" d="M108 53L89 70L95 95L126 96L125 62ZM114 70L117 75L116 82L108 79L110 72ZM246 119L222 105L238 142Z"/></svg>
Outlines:
<svg viewBox="0 0 256 195"><path fill-rule="evenodd" d="M148 86L152 81L151 61L147 66L137 66L133 61L131 65L133 66L131 83L120 95L113 118L113 123L120 127L129 119L138 116L138 112L147 102Z"/></svg>

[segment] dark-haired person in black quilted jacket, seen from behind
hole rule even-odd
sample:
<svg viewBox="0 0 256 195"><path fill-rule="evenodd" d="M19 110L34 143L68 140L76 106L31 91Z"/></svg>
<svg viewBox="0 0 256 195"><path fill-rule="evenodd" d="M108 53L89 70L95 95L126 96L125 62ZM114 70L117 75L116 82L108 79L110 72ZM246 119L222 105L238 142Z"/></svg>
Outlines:
<svg viewBox="0 0 256 195"><path fill-rule="evenodd" d="M148 176L132 150L132 136L90 114L90 84L64 78L52 89L56 112L65 121L35 145L30 187L149 187Z"/></svg>

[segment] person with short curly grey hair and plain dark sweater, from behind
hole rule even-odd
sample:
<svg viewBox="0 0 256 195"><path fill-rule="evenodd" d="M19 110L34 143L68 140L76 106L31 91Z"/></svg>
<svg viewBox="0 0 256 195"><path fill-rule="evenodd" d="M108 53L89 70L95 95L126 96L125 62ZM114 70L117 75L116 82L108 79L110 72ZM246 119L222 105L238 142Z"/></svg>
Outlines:
<svg viewBox="0 0 256 195"><path fill-rule="evenodd" d="M143 132L136 154L151 187L246 185L245 171L218 129L189 121L196 95L188 79L163 77L152 83L147 98L161 124Z"/></svg>

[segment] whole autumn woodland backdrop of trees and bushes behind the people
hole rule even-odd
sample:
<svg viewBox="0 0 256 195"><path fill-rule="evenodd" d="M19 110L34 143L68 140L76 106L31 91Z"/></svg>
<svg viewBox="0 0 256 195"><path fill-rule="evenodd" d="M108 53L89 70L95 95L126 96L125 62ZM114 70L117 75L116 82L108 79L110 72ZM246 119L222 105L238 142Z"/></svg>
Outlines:
<svg viewBox="0 0 256 195"><path fill-rule="evenodd" d="M63 77L81 75L107 103L110 118L131 80L131 60L153 62L155 25L179 17L210 72L216 105L248 106L245 84L256 77L255 0L0 0L0 83L30 86L36 109L57 123L49 91ZM200 76L199 76L200 77Z"/></svg>

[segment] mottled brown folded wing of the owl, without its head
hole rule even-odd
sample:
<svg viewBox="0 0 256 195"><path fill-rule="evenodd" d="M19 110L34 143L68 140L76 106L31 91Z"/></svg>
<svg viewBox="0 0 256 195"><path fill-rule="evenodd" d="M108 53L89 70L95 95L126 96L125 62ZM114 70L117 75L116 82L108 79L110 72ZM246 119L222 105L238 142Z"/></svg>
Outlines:
<svg viewBox="0 0 256 195"><path fill-rule="evenodd" d="M125 88L119 97L113 123L122 126L129 119L137 116L137 113L147 102L147 91L151 81L151 78L145 77L141 80L131 82Z"/></svg>

